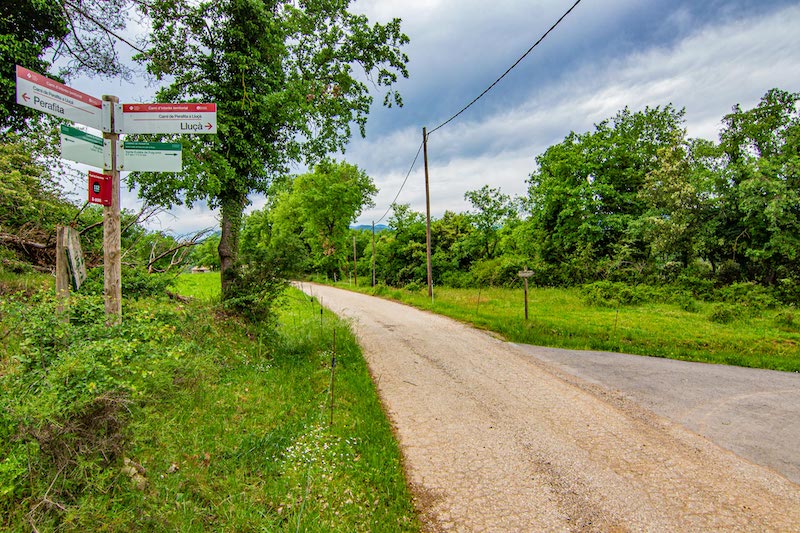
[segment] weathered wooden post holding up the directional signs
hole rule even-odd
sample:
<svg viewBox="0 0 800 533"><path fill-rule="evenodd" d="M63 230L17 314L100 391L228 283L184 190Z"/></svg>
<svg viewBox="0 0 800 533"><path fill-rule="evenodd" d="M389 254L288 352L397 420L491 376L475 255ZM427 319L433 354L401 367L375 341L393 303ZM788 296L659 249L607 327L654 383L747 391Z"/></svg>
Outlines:
<svg viewBox="0 0 800 533"><path fill-rule="evenodd" d="M116 96L103 95L103 100L114 104ZM103 294L105 296L106 324L116 326L122 323L122 253L121 228L119 220L120 184L117 170L117 141L119 134L114 132L114 114L111 114L111 131L103 133L103 139L111 143L111 168L103 173L111 176L111 205L103 207Z"/></svg>

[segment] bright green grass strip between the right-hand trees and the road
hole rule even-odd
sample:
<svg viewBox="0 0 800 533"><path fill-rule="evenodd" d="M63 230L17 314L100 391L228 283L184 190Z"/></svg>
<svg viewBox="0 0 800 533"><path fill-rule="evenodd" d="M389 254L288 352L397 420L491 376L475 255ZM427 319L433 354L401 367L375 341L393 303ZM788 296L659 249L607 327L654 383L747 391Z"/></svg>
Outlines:
<svg viewBox="0 0 800 533"><path fill-rule="evenodd" d="M695 300L686 311L668 303L590 305L578 289L530 287L528 320L519 289L408 291L385 286L345 289L375 294L499 333L511 342L624 352L670 359L800 372L800 317L792 307L734 312ZM733 308L735 309L735 308Z"/></svg>

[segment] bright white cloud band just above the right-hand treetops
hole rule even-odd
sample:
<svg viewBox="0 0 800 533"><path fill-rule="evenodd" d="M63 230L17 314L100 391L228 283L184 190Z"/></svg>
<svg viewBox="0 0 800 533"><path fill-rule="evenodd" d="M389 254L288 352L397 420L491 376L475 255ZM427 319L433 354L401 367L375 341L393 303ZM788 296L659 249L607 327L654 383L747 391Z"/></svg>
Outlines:
<svg viewBox="0 0 800 533"><path fill-rule="evenodd" d="M688 25L686 17L676 15L674 23ZM625 106L685 107L689 135L716 140L720 121L732 105L752 107L770 88L800 87L798 26L800 6L791 6L759 19L701 27L677 43L632 50L607 63L595 63L589 55L579 70L548 85L532 86L529 97L517 105L479 120L465 113L430 136L433 215L466 209L464 192L487 183L506 193L524 193L536 154L570 131L592 129ZM502 102L503 88L498 86L486 98ZM421 134L415 135L421 139ZM406 130L392 132L362 143L348 155L381 188L377 207L365 212L361 221L382 214L402 181L399 168L383 170L375 154L394 161L402 153L407 169L419 143L413 137ZM417 168L421 176L421 162ZM423 178L412 175L411 180L398 202L424 212Z"/></svg>

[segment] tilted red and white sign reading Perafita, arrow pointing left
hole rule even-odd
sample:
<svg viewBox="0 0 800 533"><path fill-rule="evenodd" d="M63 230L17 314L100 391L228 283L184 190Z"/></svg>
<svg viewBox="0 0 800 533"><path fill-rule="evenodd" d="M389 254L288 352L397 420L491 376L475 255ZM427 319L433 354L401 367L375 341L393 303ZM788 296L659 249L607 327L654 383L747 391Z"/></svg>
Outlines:
<svg viewBox="0 0 800 533"><path fill-rule="evenodd" d="M17 103L96 130L111 131L111 104L17 65Z"/></svg>

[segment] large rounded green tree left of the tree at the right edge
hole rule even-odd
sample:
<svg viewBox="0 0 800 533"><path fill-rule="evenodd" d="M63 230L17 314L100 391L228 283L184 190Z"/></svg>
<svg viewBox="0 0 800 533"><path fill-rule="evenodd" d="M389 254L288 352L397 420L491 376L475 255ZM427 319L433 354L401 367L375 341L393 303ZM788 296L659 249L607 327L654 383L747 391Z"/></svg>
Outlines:
<svg viewBox="0 0 800 533"><path fill-rule="evenodd" d="M545 263L594 269L615 257L643 259L648 247L631 231L648 207L640 191L659 168L659 150L685 137L683 115L671 105L626 108L536 158L529 206Z"/></svg>

